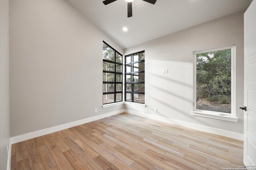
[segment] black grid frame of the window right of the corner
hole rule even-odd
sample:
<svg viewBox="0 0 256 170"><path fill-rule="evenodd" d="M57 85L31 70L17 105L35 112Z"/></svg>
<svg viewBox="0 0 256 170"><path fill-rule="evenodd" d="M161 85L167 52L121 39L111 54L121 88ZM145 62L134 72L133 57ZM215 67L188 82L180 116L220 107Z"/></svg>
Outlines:
<svg viewBox="0 0 256 170"><path fill-rule="evenodd" d="M136 74L136 73L144 73L144 75L145 75L145 59L144 60L138 60L138 61L134 61L134 57L133 57L133 55L134 54L138 54L138 53L144 53L144 55L145 55L145 50L144 51L139 51L139 52L136 52L136 53L132 53L132 54L129 54L129 55L125 55L124 56L124 101L125 102L130 102L130 103L136 103L136 104L145 104L145 90L144 90L144 92L134 92L134 84L144 84L144 88L145 88L145 79L144 79L144 81L142 81L142 82L134 82L134 79L133 79L133 74ZM130 63L126 63L126 57L128 57L128 56L131 56L131 62ZM143 71L135 71L134 72L134 68L133 68L133 64L135 64L135 63L143 63L144 62L144 70ZM126 72L126 65L128 65L128 64L131 64L131 72ZM126 75L127 74L132 74L131 75L131 82L126 82ZM144 76L144 78L145 78L145 76ZM131 92L126 92L126 84L132 84L132 90L131 90ZM132 101L126 101L126 94L132 94ZM144 94L144 103L139 103L139 102L134 102L134 94Z"/></svg>

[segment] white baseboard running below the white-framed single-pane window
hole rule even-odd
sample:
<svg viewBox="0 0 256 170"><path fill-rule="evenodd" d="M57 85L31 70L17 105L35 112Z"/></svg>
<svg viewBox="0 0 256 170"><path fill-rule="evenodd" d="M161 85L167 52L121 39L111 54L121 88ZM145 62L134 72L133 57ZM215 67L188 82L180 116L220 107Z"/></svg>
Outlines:
<svg viewBox="0 0 256 170"><path fill-rule="evenodd" d="M158 121L163 121L163 122L166 122L166 123L172 123L172 124L175 124L175 125L181 125L181 126L184 126L184 127L189 127L189 128L193 128L193 129L196 129L196 130L205 131L205 132L208 132L208 133L214 133L214 134L217 134L217 135L222 135L222 136L234 138L234 139L238 139L238 140L241 140L241 141L244 140L244 135L241 134L241 133L235 133L235 132L226 131L226 130L222 130L222 129L216 129L216 128L213 128L213 127L198 125L198 124L189 123L189 122L186 122L186 121L170 119L170 118L157 116L157 115L150 115L148 113L141 113L141 112L138 112L138 111L132 111L132 110L127 110L127 109L124 109L124 112L130 113L130 114L133 114L133 115L137 115L137 116L141 116L141 117L146 117L146 118L158 120Z"/></svg>

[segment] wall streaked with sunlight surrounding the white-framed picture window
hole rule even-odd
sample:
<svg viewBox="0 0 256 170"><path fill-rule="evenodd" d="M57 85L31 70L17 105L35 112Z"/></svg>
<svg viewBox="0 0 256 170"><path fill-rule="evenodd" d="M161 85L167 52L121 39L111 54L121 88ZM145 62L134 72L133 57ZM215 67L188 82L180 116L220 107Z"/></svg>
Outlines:
<svg viewBox="0 0 256 170"><path fill-rule="evenodd" d="M125 109L243 133L244 11L125 49L125 55L145 50L146 108ZM181 21L182 22L182 21ZM236 115L238 123L197 117L193 109L193 51L236 44ZM162 69L168 74L162 74ZM158 109L158 113L154 112Z"/></svg>

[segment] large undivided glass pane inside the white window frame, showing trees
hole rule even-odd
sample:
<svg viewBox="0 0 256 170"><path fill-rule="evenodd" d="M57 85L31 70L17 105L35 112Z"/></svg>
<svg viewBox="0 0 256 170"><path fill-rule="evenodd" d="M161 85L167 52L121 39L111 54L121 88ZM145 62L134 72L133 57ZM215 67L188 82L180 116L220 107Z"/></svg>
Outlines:
<svg viewBox="0 0 256 170"><path fill-rule="evenodd" d="M196 55L196 109L231 113L231 49Z"/></svg>

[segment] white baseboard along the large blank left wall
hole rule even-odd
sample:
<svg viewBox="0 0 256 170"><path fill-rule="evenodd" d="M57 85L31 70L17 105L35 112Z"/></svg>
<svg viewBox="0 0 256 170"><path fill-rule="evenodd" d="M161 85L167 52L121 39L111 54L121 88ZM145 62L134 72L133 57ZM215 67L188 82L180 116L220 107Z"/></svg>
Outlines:
<svg viewBox="0 0 256 170"><path fill-rule="evenodd" d="M49 133L61 131L63 129L68 129L70 127L82 125L84 123L88 123L88 122L91 122L91 121L95 121L95 120L98 120L98 119L102 119L104 117L109 117L109 116L116 115L116 114L123 113L123 112L124 112L124 109L121 109L121 110L113 111L113 112L110 112L110 113L105 113L105 114L102 114L102 115L97 115L97 116L94 116L94 117L88 117L86 119L73 121L73 122L70 122L70 123L63 124L63 125L58 125L58 126L50 127L50 128L47 128L47 129L42 129L42 130L39 130L39 131L26 133L26 134L19 135L19 136L16 136L16 137L11 137L10 138L10 143L13 144L13 143L21 142L21 141L26 141L26 140L32 139L34 137L39 137L39 136L46 135L46 134L49 134Z"/></svg>

